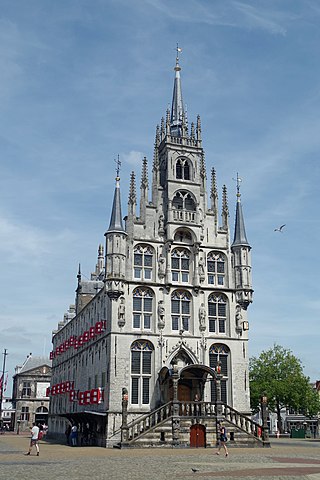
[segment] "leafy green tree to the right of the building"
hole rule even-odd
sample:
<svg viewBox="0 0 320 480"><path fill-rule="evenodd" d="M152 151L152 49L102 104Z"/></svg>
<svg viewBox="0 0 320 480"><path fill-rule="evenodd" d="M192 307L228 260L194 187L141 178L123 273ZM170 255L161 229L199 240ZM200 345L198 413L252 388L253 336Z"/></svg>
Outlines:
<svg viewBox="0 0 320 480"><path fill-rule="evenodd" d="M303 374L301 361L291 350L280 345L263 351L249 362L251 408L257 411L260 397L266 394L269 410L277 414L278 427L283 431L281 409L292 408L305 415L320 411L319 397Z"/></svg>

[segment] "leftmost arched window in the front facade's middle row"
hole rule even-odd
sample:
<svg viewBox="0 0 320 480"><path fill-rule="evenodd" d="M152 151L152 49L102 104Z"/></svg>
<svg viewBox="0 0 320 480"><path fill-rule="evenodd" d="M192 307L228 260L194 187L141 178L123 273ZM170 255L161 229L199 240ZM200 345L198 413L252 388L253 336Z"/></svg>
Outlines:
<svg viewBox="0 0 320 480"><path fill-rule="evenodd" d="M153 291L136 288L133 291L133 328L150 330L152 324Z"/></svg>

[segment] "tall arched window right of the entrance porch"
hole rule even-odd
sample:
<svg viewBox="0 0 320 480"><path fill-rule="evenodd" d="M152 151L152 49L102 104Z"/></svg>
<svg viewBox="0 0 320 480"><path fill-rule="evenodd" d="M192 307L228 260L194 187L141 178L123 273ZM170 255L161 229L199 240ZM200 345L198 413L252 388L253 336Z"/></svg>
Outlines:
<svg viewBox="0 0 320 480"><path fill-rule="evenodd" d="M221 400L228 403L228 377L229 377L229 354L230 350L226 345L216 343L211 345L209 349L209 365L211 368L217 368L217 364L221 365ZM217 388L215 381L211 382L211 402L217 401Z"/></svg>

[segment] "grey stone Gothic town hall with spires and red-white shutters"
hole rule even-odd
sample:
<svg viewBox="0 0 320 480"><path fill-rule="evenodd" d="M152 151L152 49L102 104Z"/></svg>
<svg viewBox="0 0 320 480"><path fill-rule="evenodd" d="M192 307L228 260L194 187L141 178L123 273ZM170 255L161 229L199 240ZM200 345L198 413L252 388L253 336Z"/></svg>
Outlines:
<svg viewBox="0 0 320 480"><path fill-rule="evenodd" d="M220 417L256 433L240 179L233 228L227 189L218 195L206 168L200 116L187 120L179 51L174 72L152 167L142 159L139 187L132 172L123 218L118 165L105 246L90 280L79 267L75 305L53 332L53 435L70 423L85 444L195 446L200 434L207 445Z"/></svg>

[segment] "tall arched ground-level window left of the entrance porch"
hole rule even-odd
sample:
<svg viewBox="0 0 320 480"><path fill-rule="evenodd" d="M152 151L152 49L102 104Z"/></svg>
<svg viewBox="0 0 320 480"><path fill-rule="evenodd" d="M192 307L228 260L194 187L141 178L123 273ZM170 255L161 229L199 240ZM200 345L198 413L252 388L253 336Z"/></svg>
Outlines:
<svg viewBox="0 0 320 480"><path fill-rule="evenodd" d="M131 345L131 403L150 403L153 345L147 340L136 340Z"/></svg>

